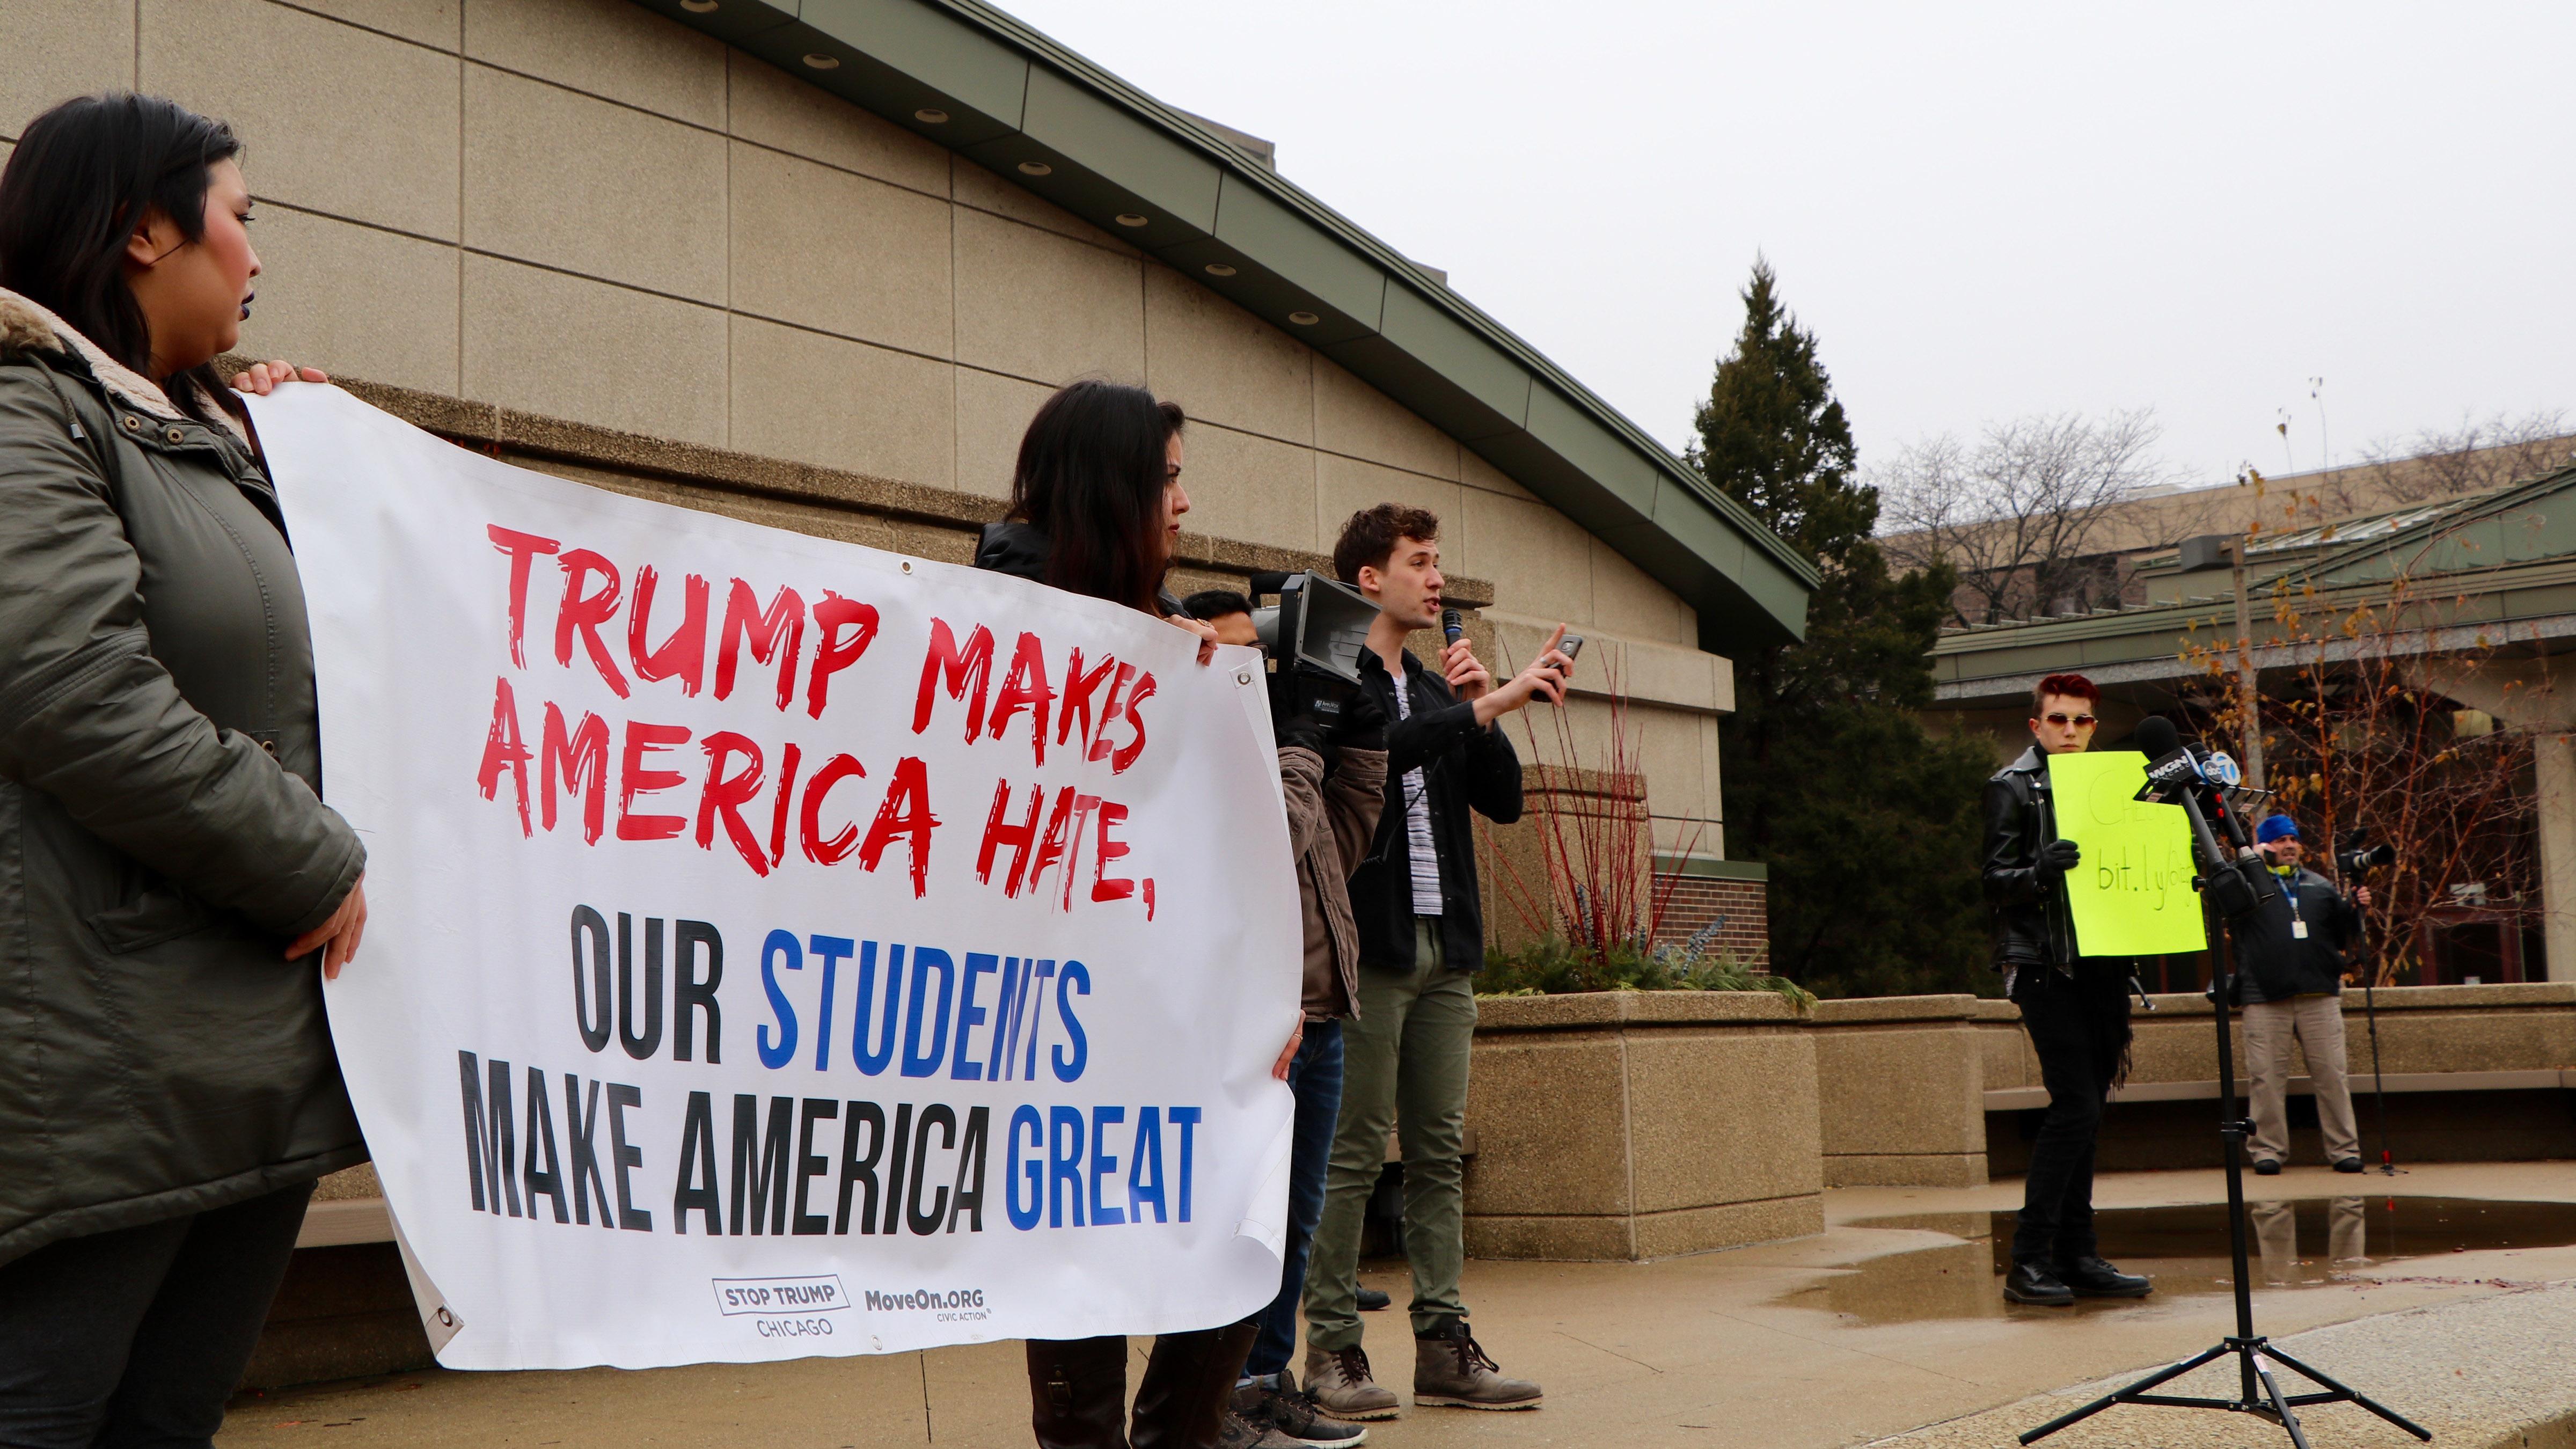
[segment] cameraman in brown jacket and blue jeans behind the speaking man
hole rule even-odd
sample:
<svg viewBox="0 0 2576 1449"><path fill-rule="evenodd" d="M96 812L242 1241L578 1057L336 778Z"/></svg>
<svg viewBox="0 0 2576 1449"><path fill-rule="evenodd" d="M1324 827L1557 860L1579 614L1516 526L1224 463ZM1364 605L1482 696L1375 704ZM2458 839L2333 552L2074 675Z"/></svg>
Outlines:
<svg viewBox="0 0 2576 1449"><path fill-rule="evenodd" d="M1211 588L1182 608L1216 627L1218 645L1255 645L1252 601ZM1306 1289L1306 1250L1324 1214L1324 1165L1332 1129L1342 1116L1342 1021L1360 1011L1360 933L1350 918L1350 871L1368 853L1386 804L1386 712L1360 691L1332 730L1298 709L1285 678L1273 678L1270 719L1280 755L1280 794L1288 802L1288 851L1306 915L1306 1034L1288 1062L1296 1093L1296 1129L1288 1142L1288 1238L1280 1245L1280 1292L1255 1323L1260 1338L1234 1385L1234 1413L1255 1431L1252 1444L1368 1441L1368 1428L1316 1413L1314 1395L1298 1392L1288 1372L1296 1348L1296 1310Z"/></svg>

